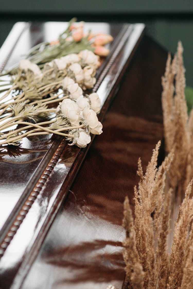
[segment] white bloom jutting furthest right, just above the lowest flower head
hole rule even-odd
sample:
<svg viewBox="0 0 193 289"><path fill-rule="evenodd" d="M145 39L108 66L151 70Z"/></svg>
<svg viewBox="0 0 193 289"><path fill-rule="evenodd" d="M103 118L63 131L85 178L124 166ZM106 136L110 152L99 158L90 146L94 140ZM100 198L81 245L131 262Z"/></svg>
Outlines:
<svg viewBox="0 0 193 289"><path fill-rule="evenodd" d="M102 123L98 120L96 112L92 109L85 108L83 110L83 117L86 119L92 134L102 134Z"/></svg>

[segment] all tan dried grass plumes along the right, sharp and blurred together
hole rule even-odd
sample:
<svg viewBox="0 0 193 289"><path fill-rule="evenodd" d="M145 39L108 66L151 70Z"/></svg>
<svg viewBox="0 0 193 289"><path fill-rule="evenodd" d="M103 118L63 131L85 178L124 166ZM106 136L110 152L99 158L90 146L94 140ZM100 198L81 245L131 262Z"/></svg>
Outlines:
<svg viewBox="0 0 193 289"><path fill-rule="evenodd" d="M173 60L168 55L166 72L162 77L167 156L157 168L158 142L145 175L139 159L137 174L140 181L138 188L134 187L134 221L127 197L124 203L126 239L123 256L128 288L193 288L193 110L188 116L182 52L179 42ZM170 189L167 191L166 187ZM171 201L175 195L177 200L179 197L182 199L184 192L169 254L167 239L173 210ZM138 280L133 277L136 274Z"/></svg>

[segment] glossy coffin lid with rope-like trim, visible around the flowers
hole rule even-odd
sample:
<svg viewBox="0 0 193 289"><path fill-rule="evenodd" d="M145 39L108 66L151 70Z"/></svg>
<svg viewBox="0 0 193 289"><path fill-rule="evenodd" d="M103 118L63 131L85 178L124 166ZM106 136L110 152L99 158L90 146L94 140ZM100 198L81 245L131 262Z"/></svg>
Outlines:
<svg viewBox="0 0 193 289"><path fill-rule="evenodd" d="M17 23L0 50L1 71L30 47L51 41L66 23ZM112 34L110 55L99 68L93 92L101 97L101 121L144 30L143 24L86 23ZM100 136L99 136L100 137ZM93 138L92 138L93 140ZM24 139L21 148L1 150L0 272L2 288L19 288L62 200L89 149L69 147L60 137ZM35 250L34 250L35 249ZM31 260L31 261L29 261ZM3 281L2 281L3 280ZM14 280L14 281L13 281Z"/></svg>

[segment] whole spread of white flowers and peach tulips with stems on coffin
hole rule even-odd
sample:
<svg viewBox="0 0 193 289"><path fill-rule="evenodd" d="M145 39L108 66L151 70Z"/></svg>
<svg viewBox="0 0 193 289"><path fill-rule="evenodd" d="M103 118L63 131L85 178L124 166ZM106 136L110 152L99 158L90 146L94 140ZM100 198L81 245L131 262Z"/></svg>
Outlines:
<svg viewBox="0 0 193 289"><path fill-rule="evenodd" d="M70 145L86 147L90 133L102 133L97 118L101 100L90 90L100 56L109 53L103 45L113 38L84 34L84 23L75 20L57 40L36 45L26 59L1 75L0 146L18 146L23 137L58 134Z"/></svg>

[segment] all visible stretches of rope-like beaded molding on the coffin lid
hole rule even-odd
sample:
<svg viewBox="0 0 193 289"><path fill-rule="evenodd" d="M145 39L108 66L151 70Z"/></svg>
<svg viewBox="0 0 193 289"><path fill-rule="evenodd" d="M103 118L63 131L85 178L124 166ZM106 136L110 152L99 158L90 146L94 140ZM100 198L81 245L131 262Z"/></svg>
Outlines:
<svg viewBox="0 0 193 289"><path fill-rule="evenodd" d="M25 28L24 28L25 29ZM23 29L23 31L24 31ZM22 31L22 33L23 33ZM110 70L112 64L114 63L116 57L118 56L119 52L121 51L121 49L123 48L125 42L127 41L128 37L130 36L131 32L133 31L133 25L129 25L129 27L126 29L122 39L120 40L118 46L116 47L114 53L112 54L109 62L107 63L107 65L105 66L103 72L101 73L98 81L96 82L94 88L93 88L93 92L96 92L97 89L99 88L99 86L101 85L103 79L105 78L105 76L107 75L108 71ZM21 34L22 34L21 33ZM21 36L21 35L20 35ZM19 38L18 38L19 39ZM5 62L3 62L4 66L6 64L6 62L8 61L8 58L10 57L11 53L14 50L14 47L16 46L16 43L14 43L14 46L12 47L7 59L5 60ZM3 67L4 67L3 66ZM2 68L3 69L3 68ZM1 71L1 70L0 70ZM60 143L57 151L54 153L51 161L49 162L49 164L47 165L47 168L45 169L45 171L42 173L40 179L38 180L36 186L34 187L34 189L32 190L32 192L29 194L27 200L25 201L23 207L21 208L20 212L18 213L17 217L15 218L14 222L12 223L12 225L10 226L10 229L8 231L8 233L6 234L4 240L1 242L0 244L0 258L3 256L5 250L7 249L7 247L9 246L11 240L14 238L17 230L19 229L21 223L23 222L23 220L25 219L25 216L27 215L27 213L29 212L29 209L31 208L31 206L33 205L34 201L36 200L38 194L41 192L42 187L44 186L44 184L46 183L46 181L48 180L51 172L53 171L53 168L55 167L55 165L57 164L64 148L66 147L66 142L64 140L62 140L62 142Z"/></svg>

